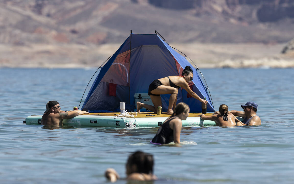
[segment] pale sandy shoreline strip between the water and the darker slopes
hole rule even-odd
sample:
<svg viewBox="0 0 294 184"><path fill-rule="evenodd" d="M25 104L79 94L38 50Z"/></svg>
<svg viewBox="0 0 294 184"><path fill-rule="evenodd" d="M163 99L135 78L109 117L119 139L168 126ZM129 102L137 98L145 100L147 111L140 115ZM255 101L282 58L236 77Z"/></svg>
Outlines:
<svg viewBox="0 0 294 184"><path fill-rule="evenodd" d="M294 53L280 53L285 43L170 45L186 54L200 69L294 67ZM121 44L0 44L0 68L98 68L120 46Z"/></svg>

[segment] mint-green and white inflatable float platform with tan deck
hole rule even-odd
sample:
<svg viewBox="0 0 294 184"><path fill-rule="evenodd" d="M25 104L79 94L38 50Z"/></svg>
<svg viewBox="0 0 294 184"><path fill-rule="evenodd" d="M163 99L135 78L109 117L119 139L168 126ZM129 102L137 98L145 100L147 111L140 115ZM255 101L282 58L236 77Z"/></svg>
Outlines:
<svg viewBox="0 0 294 184"><path fill-rule="evenodd" d="M134 117L118 117L117 112L90 113L78 115L71 119L63 120L63 125L83 126L83 127L159 127L171 115L157 115L154 113L138 113ZM183 120L183 127L189 126L215 126L216 123L210 120L201 120L198 116L201 113L189 113L189 117ZM210 113L207 116L212 115ZM41 125L42 115L32 115L26 117L26 125ZM239 120L243 118L238 117Z"/></svg>

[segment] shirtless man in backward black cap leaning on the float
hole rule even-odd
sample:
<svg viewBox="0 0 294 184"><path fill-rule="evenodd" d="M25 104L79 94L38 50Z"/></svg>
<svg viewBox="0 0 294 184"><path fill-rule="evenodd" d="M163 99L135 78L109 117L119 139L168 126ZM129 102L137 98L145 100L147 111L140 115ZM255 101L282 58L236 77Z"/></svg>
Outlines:
<svg viewBox="0 0 294 184"><path fill-rule="evenodd" d="M56 101L49 101L46 104L46 111L41 119L41 125L58 127L62 125L62 120L76 117L77 115L90 114L86 111L61 111L60 105Z"/></svg>

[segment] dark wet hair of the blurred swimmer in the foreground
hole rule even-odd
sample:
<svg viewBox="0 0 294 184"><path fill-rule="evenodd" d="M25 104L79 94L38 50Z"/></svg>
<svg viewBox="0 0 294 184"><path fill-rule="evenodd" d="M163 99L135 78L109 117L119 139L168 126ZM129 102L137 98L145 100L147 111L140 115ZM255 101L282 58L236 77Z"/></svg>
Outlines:
<svg viewBox="0 0 294 184"><path fill-rule="evenodd" d="M132 173L153 173L153 155L144 153L142 151L136 151L129 155L128 161L126 163L127 175Z"/></svg>

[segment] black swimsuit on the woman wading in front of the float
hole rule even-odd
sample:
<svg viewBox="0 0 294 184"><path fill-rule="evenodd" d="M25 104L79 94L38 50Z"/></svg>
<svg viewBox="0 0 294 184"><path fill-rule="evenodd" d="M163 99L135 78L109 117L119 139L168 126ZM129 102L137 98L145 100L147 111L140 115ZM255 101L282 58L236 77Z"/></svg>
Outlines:
<svg viewBox="0 0 294 184"><path fill-rule="evenodd" d="M160 132L157 132L157 134L153 137L153 139L150 141L152 144L168 144L170 142L173 142L173 129L169 126L169 122L175 118L178 117L173 117L164 122L161 125L161 130Z"/></svg>

